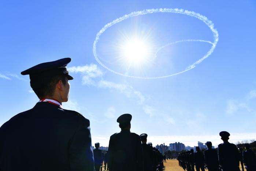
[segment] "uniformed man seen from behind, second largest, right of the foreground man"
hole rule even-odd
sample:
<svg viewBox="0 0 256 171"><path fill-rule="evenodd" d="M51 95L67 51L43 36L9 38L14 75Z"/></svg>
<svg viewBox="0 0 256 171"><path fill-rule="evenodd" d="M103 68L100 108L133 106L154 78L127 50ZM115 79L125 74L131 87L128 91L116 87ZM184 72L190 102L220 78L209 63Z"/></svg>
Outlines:
<svg viewBox="0 0 256 171"><path fill-rule="evenodd" d="M131 115L123 114L116 120L120 133L111 135L108 145L110 171L143 171L143 152L140 136L131 133Z"/></svg>

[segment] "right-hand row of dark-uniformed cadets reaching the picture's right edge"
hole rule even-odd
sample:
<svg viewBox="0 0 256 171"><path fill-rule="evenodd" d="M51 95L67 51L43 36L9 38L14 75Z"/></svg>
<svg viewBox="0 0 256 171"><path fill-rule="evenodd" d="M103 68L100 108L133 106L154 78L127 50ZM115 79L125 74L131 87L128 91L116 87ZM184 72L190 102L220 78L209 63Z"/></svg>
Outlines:
<svg viewBox="0 0 256 171"><path fill-rule="evenodd" d="M240 163L242 171L244 166L246 171L256 171L256 156L249 144L245 144L245 151L242 148L237 148L235 144L228 142L230 134L226 131L220 132L222 144L218 145L217 149L212 149L212 143L207 141L207 148L202 152L199 146L196 147L196 152L193 149L190 151L179 153L177 160L179 166L183 170L204 171L207 168L209 171L240 171Z"/></svg>

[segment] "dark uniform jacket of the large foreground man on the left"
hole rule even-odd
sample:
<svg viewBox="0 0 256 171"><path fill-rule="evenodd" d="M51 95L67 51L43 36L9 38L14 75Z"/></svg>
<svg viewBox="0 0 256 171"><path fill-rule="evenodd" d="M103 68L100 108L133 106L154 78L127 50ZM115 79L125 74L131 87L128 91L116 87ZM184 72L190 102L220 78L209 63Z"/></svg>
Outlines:
<svg viewBox="0 0 256 171"><path fill-rule="evenodd" d="M0 128L0 171L93 171L90 122L39 102Z"/></svg>

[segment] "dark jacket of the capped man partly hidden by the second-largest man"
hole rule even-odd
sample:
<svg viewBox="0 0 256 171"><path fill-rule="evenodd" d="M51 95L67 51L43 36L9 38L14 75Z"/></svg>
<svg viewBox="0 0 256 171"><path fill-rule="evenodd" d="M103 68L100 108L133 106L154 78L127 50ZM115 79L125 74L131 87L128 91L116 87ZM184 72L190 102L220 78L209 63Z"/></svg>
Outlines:
<svg viewBox="0 0 256 171"><path fill-rule="evenodd" d="M150 145L142 143L144 156L144 171L153 171L153 149Z"/></svg>

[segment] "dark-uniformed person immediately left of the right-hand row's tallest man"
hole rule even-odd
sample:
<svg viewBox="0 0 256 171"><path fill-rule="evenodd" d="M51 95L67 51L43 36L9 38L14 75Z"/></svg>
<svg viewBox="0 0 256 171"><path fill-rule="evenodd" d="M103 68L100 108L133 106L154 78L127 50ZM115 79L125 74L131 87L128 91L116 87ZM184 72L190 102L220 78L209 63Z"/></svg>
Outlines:
<svg viewBox="0 0 256 171"><path fill-rule="evenodd" d="M218 153L212 149L212 142L207 141L206 146L208 149L204 150L205 165L209 171L219 171Z"/></svg>

